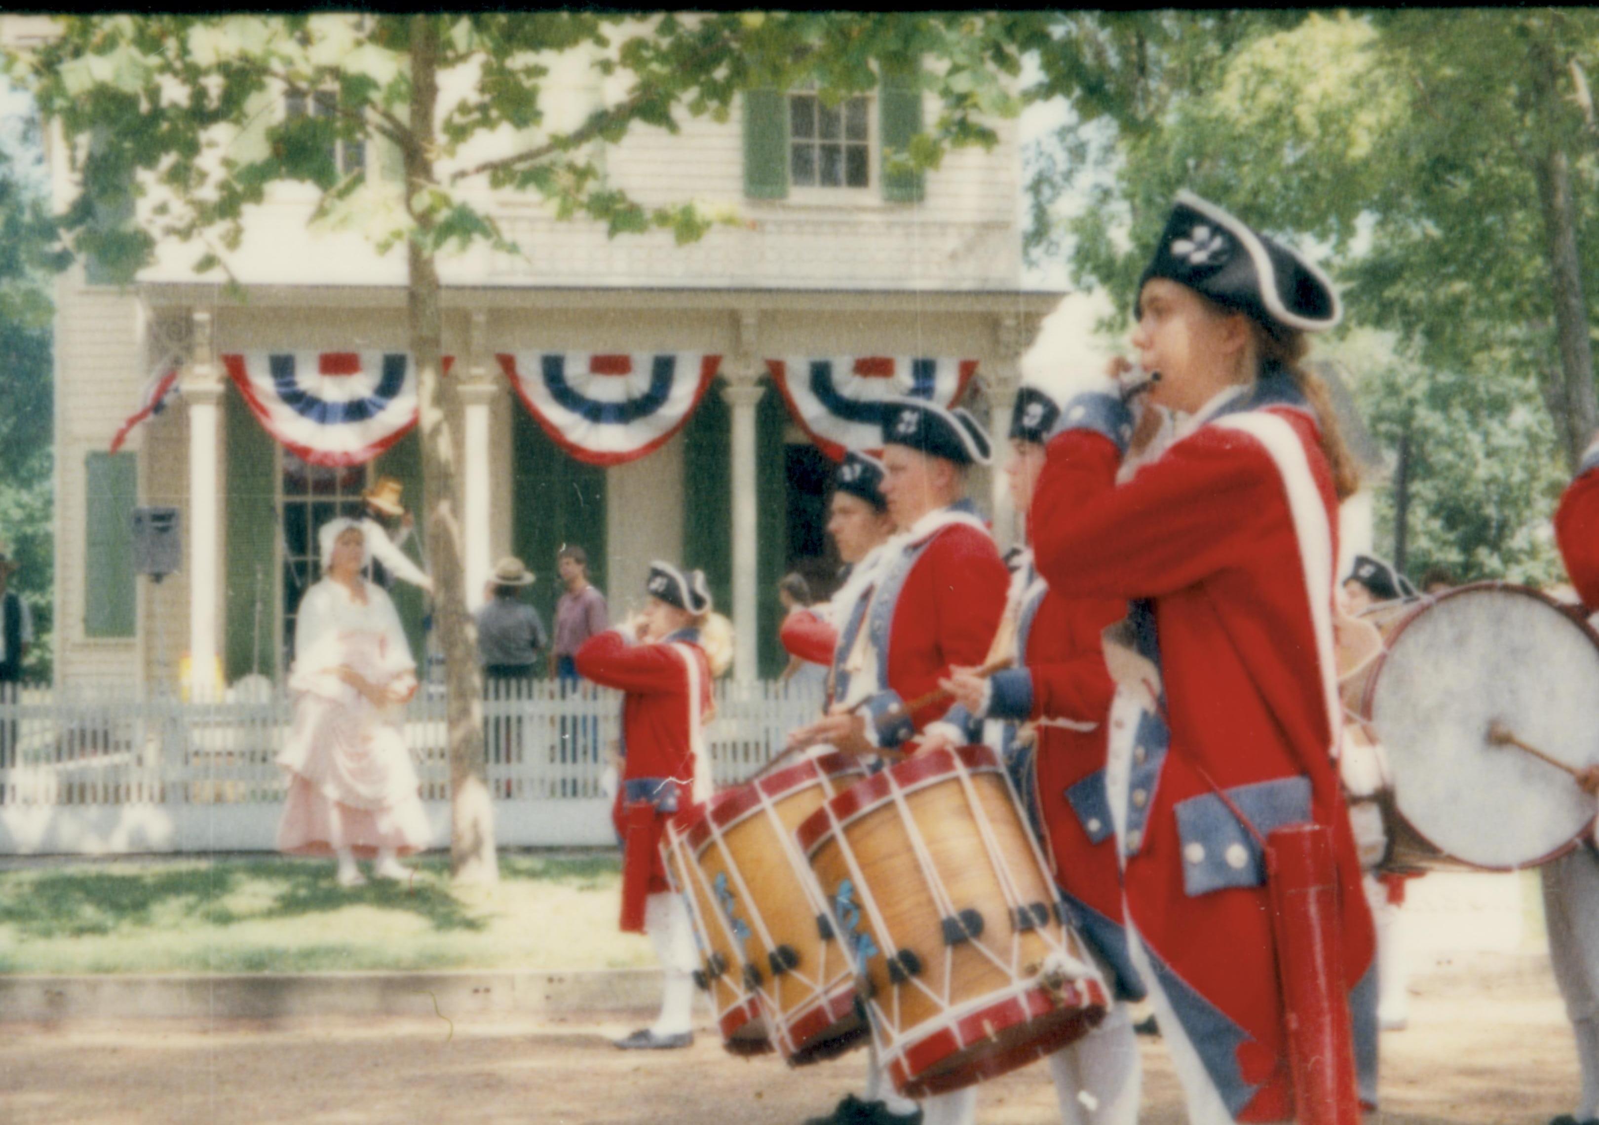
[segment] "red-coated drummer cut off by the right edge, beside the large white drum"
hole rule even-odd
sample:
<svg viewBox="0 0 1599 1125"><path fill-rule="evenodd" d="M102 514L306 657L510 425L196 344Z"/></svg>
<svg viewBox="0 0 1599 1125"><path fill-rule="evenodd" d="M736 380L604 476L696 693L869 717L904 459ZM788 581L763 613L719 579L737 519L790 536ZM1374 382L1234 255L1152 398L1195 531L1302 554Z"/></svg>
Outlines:
<svg viewBox="0 0 1599 1125"><path fill-rule="evenodd" d="M1554 540L1565 574L1593 612L1599 609L1599 435L1577 468L1577 478L1554 513ZM1599 794L1599 767L1591 767L1581 786ZM1565 1015L1577 1037L1577 1061L1583 1074L1577 1112L1551 1125L1593 1125L1599 1120L1599 853L1593 841L1545 863L1543 914L1549 933L1549 965L1565 1000Z"/></svg>

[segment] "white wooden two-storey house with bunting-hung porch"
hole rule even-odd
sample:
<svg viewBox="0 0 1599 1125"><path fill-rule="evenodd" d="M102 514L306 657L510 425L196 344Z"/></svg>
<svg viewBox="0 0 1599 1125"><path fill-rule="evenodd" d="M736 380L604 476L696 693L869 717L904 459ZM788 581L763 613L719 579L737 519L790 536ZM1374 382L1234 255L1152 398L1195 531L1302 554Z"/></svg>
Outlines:
<svg viewBox="0 0 1599 1125"><path fill-rule="evenodd" d="M572 74L574 113L611 96ZM911 368L958 371L971 376L961 401L1003 428L1017 360L1059 299L1022 289L1014 123L996 123L991 152L955 152L926 176L884 174L884 145L932 112L892 86L833 110L812 93L758 91L728 123L688 120L675 136L636 129L604 153L612 184L646 205L696 200L740 219L689 246L665 233L611 240L536 200L484 197L524 254L481 248L441 267L445 352L469 388L469 599L494 559L518 555L539 574L534 601L548 622L555 551L571 542L588 550L620 610L640 598L651 559L676 559L707 570L734 618L736 674L782 666L779 577L800 567L825 578L836 559L822 532L831 462L777 372L800 379L796 361L830 360L838 380L860 371L862 385L878 377L886 387L886 360L902 384ZM339 158L369 177L392 168L379 144ZM50 160L64 205L72 161L59 137ZM421 510L414 431L365 463L307 465L229 374L225 356L406 353L403 252L379 257L357 232L310 230L312 205L309 190L283 185L251 214L229 256L241 300L190 272L193 246L161 246L128 288L99 284L93 262L59 280L62 684L169 684L185 657L203 670L213 654L227 684L256 671L280 678L294 604L315 577L309 529L376 475L405 481L408 507ZM532 417L497 358L552 355L720 360L668 441L595 465L568 452L558 423ZM141 388L173 363L181 395L109 452ZM980 476L979 491L1007 540L998 475ZM182 570L158 585L133 574L138 505L182 513ZM424 601L411 591L398 601L421 646Z"/></svg>

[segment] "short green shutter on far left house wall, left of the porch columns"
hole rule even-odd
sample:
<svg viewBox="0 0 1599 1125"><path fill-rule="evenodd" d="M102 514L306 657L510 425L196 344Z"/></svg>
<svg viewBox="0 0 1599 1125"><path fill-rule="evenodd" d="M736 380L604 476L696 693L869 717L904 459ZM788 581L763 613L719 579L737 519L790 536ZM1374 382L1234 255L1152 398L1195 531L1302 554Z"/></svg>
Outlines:
<svg viewBox="0 0 1599 1125"><path fill-rule="evenodd" d="M83 566L83 636L133 636L133 508L139 502L139 460L133 454L88 455Z"/></svg>

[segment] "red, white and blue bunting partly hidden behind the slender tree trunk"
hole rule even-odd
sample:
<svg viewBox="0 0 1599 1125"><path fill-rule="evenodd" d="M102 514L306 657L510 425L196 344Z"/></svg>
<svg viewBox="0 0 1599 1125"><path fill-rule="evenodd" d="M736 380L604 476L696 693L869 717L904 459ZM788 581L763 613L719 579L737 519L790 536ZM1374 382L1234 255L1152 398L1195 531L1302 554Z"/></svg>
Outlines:
<svg viewBox="0 0 1599 1125"><path fill-rule="evenodd" d="M405 353L248 352L222 364L267 433L312 465L365 465L416 425Z"/></svg>

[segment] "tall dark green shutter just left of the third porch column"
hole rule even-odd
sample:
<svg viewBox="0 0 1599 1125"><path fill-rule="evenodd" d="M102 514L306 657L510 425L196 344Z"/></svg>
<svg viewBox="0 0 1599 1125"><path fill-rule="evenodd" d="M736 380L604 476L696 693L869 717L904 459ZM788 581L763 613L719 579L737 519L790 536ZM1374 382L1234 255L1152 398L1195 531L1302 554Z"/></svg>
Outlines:
<svg viewBox="0 0 1599 1125"><path fill-rule="evenodd" d="M699 567L716 607L732 615L732 414L723 380L683 427L683 566Z"/></svg>

